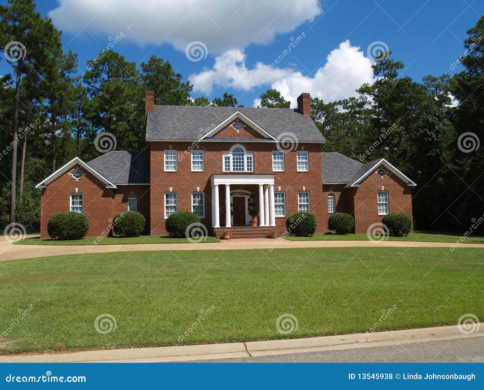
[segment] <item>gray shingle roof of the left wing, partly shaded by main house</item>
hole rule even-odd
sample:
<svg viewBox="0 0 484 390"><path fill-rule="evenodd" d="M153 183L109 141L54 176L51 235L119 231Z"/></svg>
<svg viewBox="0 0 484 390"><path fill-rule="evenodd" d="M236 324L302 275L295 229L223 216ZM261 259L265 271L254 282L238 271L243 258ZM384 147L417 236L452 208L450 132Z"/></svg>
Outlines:
<svg viewBox="0 0 484 390"><path fill-rule="evenodd" d="M150 182L150 165L144 151L112 150L87 163L114 184L146 184Z"/></svg>

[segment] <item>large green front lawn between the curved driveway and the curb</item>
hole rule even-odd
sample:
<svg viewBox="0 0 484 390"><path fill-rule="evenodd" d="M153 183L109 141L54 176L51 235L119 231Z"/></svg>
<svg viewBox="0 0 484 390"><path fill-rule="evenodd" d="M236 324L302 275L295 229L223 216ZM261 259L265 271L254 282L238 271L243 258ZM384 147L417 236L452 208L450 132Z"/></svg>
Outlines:
<svg viewBox="0 0 484 390"><path fill-rule="evenodd" d="M477 248L148 251L0 264L0 330L15 324L0 337L4 353L364 332L393 305L380 330L453 324L466 313L484 319ZM284 335L276 319L286 313L299 328ZM102 314L116 318L115 331L95 330Z"/></svg>

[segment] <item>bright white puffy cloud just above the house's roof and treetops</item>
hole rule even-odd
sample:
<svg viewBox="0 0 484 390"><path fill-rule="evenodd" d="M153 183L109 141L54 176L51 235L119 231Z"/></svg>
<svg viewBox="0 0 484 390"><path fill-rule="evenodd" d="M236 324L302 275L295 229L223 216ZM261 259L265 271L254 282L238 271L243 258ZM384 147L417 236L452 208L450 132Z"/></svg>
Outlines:
<svg viewBox="0 0 484 390"><path fill-rule="evenodd" d="M356 89L363 83L373 82L372 61L364 56L358 46L345 41L334 49L326 63L318 68L314 76L304 76L292 68L274 68L257 62L253 68L246 66L242 50L229 50L215 58L212 69L204 69L189 77L195 91L209 94L214 86L230 87L246 91L263 85L279 90L296 106L296 98L302 92L311 93L326 102L356 96ZM254 101L254 106L259 104Z"/></svg>

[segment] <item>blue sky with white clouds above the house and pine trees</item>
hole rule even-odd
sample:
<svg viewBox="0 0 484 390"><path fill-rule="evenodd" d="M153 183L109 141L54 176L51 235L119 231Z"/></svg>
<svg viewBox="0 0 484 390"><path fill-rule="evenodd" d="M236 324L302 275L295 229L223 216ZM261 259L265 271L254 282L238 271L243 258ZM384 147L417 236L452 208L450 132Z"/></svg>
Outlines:
<svg viewBox="0 0 484 390"><path fill-rule="evenodd" d="M291 101L301 92L326 101L348 97L371 81L369 46L388 46L393 58L405 63L403 74L415 80L453 74L462 70L460 65L451 69L451 63L464 51L466 30L484 14L484 3L472 0L61 3L38 1L37 9L42 15L52 13L64 31L64 50L79 53L81 74L109 37L122 33L114 50L127 60L139 63L155 54L196 85L192 97L212 100L228 91L246 106L257 104L255 99L271 87ZM297 37L297 45L282 55ZM184 48L194 41L205 45L206 58L187 58ZM280 55L270 69L268 64ZM8 72L7 62L1 61L0 74Z"/></svg>

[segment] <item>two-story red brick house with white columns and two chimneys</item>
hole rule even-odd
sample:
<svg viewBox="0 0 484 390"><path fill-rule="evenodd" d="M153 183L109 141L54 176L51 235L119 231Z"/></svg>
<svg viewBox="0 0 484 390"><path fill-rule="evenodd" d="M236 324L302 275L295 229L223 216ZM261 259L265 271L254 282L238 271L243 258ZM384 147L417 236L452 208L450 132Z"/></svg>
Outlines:
<svg viewBox="0 0 484 390"><path fill-rule="evenodd" d="M313 213L318 233L333 212L355 218L364 233L391 211L412 216L403 172L379 159L361 164L339 153L322 153L323 135L310 118L310 96L298 108L154 105L146 91L144 151L109 151L85 163L74 158L37 185L42 189L41 237L56 212L85 213L89 236L111 231L112 217L136 210L146 232L166 235L176 210L196 212L207 231L230 227L238 237L260 237L286 217ZM252 208L257 226L249 226Z"/></svg>

